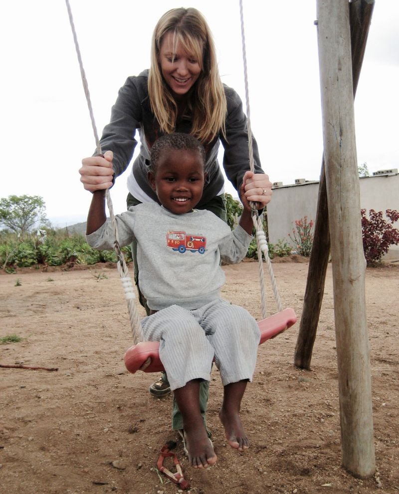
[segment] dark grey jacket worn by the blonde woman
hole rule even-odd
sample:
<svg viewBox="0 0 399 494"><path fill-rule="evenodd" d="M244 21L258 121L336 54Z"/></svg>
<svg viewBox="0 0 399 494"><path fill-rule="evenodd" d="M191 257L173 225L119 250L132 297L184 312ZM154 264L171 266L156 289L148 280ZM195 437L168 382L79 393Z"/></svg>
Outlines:
<svg viewBox="0 0 399 494"><path fill-rule="evenodd" d="M220 141L224 147L223 167L235 190L239 189L244 173L249 170L247 121L242 110L242 102L234 89L226 85L224 85L224 93L227 100L226 138L220 133L217 138L205 146L208 178L198 206L203 206L210 201L223 187L224 178L217 161ZM163 133L151 110L148 95L148 70L138 76L127 78L112 107L110 123L103 131L101 148L103 152L113 151L116 176L126 170L133 157L137 145L134 138L136 130L139 131L141 147L140 154L133 164L133 174L141 189L154 201L158 201L147 180L147 165L150 160L151 147ZM177 125L176 132L190 133L190 131L191 118L187 116ZM263 173L255 140L253 141L253 153L255 171Z"/></svg>

